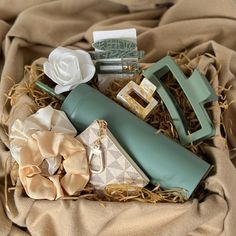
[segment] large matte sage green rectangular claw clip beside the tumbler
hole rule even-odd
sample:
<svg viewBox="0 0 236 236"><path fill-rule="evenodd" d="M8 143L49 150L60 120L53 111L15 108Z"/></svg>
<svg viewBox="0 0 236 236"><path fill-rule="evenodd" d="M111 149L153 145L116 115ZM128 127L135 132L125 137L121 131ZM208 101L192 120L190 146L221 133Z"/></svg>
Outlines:
<svg viewBox="0 0 236 236"><path fill-rule="evenodd" d="M193 133L189 131L189 126L183 111L162 82L163 76L168 72L173 74L181 86L201 125L201 128ZM194 70L189 78L186 78L174 60L170 56L166 56L146 69L144 76L157 87L156 91L170 112L180 142L183 145L191 142L200 142L215 134L214 126L204 105L217 100L218 97L208 80L201 75L197 69Z"/></svg>

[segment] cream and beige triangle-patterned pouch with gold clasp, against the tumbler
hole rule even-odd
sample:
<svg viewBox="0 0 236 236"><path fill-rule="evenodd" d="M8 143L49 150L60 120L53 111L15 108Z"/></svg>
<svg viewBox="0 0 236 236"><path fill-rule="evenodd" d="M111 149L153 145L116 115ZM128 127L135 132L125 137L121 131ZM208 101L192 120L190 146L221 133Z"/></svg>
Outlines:
<svg viewBox="0 0 236 236"><path fill-rule="evenodd" d="M107 184L131 184L144 187L148 177L120 146L103 120L95 120L77 138L87 147L90 183L96 189Z"/></svg>

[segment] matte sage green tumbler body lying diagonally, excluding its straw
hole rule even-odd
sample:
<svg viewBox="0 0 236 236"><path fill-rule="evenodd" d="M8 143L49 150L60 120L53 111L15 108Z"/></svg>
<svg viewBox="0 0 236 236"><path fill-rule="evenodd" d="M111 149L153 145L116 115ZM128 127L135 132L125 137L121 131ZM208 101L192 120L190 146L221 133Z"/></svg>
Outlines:
<svg viewBox="0 0 236 236"><path fill-rule="evenodd" d="M96 119L107 121L110 131L151 183L164 189L183 188L189 197L210 168L207 162L87 84L72 90L61 110L78 132Z"/></svg>

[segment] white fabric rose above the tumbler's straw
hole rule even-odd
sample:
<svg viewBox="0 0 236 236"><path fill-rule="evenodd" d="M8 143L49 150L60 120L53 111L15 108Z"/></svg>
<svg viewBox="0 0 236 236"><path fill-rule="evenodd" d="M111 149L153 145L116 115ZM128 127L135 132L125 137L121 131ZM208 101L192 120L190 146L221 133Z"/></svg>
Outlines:
<svg viewBox="0 0 236 236"><path fill-rule="evenodd" d="M57 94L88 82L95 74L95 66L89 53L63 47L58 47L50 53L43 68L44 73L57 84Z"/></svg>

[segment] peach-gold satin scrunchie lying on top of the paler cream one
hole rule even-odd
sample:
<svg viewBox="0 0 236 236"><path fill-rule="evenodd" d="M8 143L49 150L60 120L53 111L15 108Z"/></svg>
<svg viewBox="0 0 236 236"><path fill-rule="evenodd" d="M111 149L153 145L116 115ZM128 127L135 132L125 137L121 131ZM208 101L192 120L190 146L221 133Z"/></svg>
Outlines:
<svg viewBox="0 0 236 236"><path fill-rule="evenodd" d="M50 161L55 163L51 173ZM21 148L19 177L31 198L54 200L64 196L63 190L74 195L89 180L86 150L70 135L38 131Z"/></svg>

